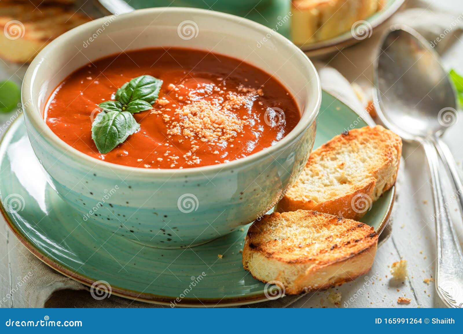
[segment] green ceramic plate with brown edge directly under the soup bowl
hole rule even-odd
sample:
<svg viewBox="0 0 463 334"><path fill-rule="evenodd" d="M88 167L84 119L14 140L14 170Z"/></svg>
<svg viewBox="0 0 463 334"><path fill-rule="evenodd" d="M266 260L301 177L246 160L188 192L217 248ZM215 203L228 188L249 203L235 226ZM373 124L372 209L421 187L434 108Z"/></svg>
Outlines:
<svg viewBox="0 0 463 334"><path fill-rule="evenodd" d="M344 103L323 92L315 146L365 125ZM158 304L170 304L176 298L181 306L267 300L266 285L241 265L239 251L247 227L194 248L154 249L82 222L48 185L23 117L5 134L0 170L1 211L12 231L34 255L72 279L86 285L106 281L113 294ZM391 189L375 202L363 222L381 232L393 198Z"/></svg>

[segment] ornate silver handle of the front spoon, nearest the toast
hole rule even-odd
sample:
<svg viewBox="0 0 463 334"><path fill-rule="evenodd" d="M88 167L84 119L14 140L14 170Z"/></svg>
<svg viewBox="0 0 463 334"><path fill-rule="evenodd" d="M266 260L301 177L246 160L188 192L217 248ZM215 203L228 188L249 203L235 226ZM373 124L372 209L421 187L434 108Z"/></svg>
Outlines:
<svg viewBox="0 0 463 334"><path fill-rule="evenodd" d="M439 297L450 307L463 308L463 254L460 243L453 229L447 203L444 203L442 183L436 147L430 140L422 142L429 169L435 214L431 220L436 221L437 266L436 290Z"/></svg>

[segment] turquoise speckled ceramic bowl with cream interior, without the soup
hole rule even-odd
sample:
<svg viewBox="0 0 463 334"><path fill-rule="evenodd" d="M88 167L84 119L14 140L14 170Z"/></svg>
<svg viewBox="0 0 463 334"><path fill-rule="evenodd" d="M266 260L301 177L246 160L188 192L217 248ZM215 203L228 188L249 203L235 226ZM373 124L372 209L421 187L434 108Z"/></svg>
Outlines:
<svg viewBox="0 0 463 334"><path fill-rule="evenodd" d="M185 21L198 31L190 39L178 32ZM91 36L96 37L88 43ZM182 170L106 163L68 146L47 127L47 99L69 73L121 49L160 46L208 49L271 73L294 95L300 122L276 145L249 157ZM307 56L269 28L219 12L153 8L94 20L58 37L32 61L22 102L27 133L48 181L80 213L83 226L97 224L153 247L181 248L235 231L279 200L312 150L321 90Z"/></svg>

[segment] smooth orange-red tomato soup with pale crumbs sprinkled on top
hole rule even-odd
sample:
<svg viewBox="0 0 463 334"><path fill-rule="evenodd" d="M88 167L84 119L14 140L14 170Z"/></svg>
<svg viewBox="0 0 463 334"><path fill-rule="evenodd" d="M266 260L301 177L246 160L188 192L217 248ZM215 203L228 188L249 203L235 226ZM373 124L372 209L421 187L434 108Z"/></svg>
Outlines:
<svg viewBox="0 0 463 334"><path fill-rule="evenodd" d="M163 81L138 130L102 154L92 121L133 78ZM148 105L149 108L149 105ZM142 49L93 61L70 74L44 111L50 129L77 150L126 166L171 169L223 164L275 145L300 120L291 94L244 61L206 51Z"/></svg>

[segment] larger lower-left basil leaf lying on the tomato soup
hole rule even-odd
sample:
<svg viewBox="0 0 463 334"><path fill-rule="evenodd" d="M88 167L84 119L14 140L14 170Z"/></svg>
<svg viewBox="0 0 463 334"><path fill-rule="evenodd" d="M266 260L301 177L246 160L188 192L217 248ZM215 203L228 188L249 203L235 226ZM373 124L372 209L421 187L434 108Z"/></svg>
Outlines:
<svg viewBox="0 0 463 334"><path fill-rule="evenodd" d="M101 116L100 116L101 115ZM92 139L100 153L107 153L123 143L140 128L130 112L100 112L92 124Z"/></svg>

